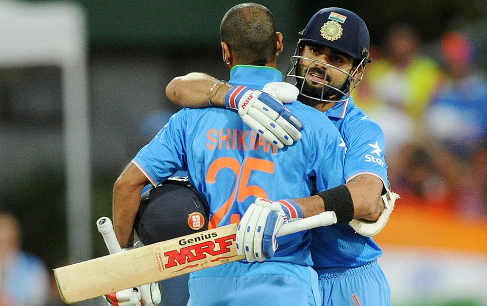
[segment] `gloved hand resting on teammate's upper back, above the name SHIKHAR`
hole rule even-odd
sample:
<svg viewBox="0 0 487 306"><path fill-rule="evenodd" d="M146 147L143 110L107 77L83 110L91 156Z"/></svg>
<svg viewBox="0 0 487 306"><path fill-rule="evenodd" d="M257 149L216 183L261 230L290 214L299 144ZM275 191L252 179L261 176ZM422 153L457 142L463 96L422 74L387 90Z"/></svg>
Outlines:
<svg viewBox="0 0 487 306"><path fill-rule="evenodd" d="M238 110L246 124L281 149L301 139L303 124L276 99L294 102L298 94L296 86L285 82L270 83L262 90L233 86L225 95L225 106Z"/></svg>

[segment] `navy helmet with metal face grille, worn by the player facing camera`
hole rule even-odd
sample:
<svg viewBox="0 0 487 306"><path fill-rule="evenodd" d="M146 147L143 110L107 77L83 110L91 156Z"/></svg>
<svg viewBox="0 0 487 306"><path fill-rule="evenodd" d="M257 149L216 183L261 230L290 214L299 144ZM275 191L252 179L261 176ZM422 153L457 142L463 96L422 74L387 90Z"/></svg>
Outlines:
<svg viewBox="0 0 487 306"><path fill-rule="evenodd" d="M303 56L304 45L327 47L346 54L354 59L351 71L345 71L329 63ZM291 57L291 65L286 74L296 80L300 97L308 105L316 102L345 102L352 91L362 81L365 65L370 63L370 35L365 22L349 10L329 7L319 10L299 33L299 41L295 54ZM303 65L302 63L309 63ZM327 79L328 70L336 70L347 77L342 85L333 85L329 81L318 82L311 75L313 66L326 67L321 69L323 79ZM312 85L307 83L312 83ZM321 86L321 88L317 87ZM303 101L303 100L301 100ZM311 102L314 101L314 102Z"/></svg>

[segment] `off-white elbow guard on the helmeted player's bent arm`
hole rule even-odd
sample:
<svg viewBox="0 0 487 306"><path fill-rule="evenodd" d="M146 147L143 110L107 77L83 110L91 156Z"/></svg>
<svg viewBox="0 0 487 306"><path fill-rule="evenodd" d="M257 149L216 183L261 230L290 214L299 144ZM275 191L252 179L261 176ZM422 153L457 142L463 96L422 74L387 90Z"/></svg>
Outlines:
<svg viewBox="0 0 487 306"><path fill-rule="evenodd" d="M371 222L362 219L354 219L349 222L349 225L352 226L357 234L362 236L372 237L377 235L384 228L384 226L386 226L389 216L391 216L394 209L395 201L400 198L401 197L397 193L388 191L385 195L381 196L381 201L384 203L384 209L382 210L382 213L377 221Z"/></svg>

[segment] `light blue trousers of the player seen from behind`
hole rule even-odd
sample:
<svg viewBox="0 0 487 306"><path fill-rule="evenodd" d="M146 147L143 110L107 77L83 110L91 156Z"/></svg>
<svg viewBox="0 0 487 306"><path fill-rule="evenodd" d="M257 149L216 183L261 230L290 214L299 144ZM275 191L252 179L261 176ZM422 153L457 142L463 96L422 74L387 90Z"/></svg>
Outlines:
<svg viewBox="0 0 487 306"><path fill-rule="evenodd" d="M285 262L231 262L192 272L188 306L319 306L318 276Z"/></svg>

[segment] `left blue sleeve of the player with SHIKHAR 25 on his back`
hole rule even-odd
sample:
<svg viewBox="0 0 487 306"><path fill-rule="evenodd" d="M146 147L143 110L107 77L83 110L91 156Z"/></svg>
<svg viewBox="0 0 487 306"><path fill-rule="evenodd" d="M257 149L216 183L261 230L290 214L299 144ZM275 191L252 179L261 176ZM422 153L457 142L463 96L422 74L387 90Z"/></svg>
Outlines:
<svg viewBox="0 0 487 306"><path fill-rule="evenodd" d="M177 171L187 171L186 118L184 109L174 114L169 122L132 159L157 186Z"/></svg>

